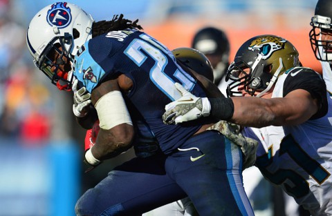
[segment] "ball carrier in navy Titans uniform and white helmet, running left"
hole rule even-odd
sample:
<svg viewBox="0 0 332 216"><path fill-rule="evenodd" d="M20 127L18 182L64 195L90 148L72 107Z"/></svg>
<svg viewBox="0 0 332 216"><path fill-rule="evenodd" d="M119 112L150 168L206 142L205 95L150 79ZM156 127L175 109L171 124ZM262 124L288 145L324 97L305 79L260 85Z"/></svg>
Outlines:
<svg viewBox="0 0 332 216"><path fill-rule="evenodd" d="M130 148L133 121L149 126L163 152L116 167L80 197L76 214L140 215L187 195L199 215L253 215L241 183L240 147L216 130L206 131L211 119L163 124L165 105L181 97L174 83L201 97L213 95L205 94L171 51L140 30L137 20L122 14L94 22L65 2L47 6L30 22L27 43L38 68L59 89L70 90L77 79L78 88L91 94L100 132L86 162L98 166ZM89 111L79 122L91 128L87 118Z"/></svg>

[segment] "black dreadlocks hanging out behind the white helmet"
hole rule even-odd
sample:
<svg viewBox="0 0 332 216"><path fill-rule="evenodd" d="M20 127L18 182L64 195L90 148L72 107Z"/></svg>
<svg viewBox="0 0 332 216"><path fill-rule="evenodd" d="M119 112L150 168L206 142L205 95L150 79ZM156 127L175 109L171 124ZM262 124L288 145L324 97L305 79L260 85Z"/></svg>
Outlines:
<svg viewBox="0 0 332 216"><path fill-rule="evenodd" d="M129 19L123 19L123 14L114 15L111 21L98 21L92 25L92 37L102 35L110 31L124 30L126 28L134 28L142 30L142 26L138 25L138 19L131 21Z"/></svg>

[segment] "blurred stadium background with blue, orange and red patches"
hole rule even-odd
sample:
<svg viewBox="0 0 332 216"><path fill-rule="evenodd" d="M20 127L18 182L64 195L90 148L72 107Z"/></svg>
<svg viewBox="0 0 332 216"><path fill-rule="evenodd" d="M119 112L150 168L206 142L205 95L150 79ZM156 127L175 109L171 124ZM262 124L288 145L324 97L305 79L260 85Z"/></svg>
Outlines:
<svg viewBox="0 0 332 216"><path fill-rule="evenodd" d="M225 30L230 58L261 34L289 39L304 66L320 72L308 40L317 0L98 0L69 1L95 20L124 14L170 49L189 47L196 30ZM84 174L85 131L71 112L71 94L34 66L26 30L40 9L55 1L0 0L0 216L71 216L78 197L132 151Z"/></svg>

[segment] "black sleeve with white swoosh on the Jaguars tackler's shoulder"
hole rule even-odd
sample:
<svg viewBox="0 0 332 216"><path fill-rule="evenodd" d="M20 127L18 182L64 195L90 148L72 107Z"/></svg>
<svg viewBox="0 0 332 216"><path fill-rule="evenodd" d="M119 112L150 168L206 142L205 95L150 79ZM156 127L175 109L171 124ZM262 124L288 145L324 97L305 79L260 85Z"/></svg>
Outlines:
<svg viewBox="0 0 332 216"><path fill-rule="evenodd" d="M326 85L322 77L317 74L311 68L294 68L288 71L288 76L284 82L284 95L288 95L289 92L297 89L303 89L311 94L313 99L318 100L320 109L311 117L311 119L317 119L327 112L327 98L326 98Z"/></svg>

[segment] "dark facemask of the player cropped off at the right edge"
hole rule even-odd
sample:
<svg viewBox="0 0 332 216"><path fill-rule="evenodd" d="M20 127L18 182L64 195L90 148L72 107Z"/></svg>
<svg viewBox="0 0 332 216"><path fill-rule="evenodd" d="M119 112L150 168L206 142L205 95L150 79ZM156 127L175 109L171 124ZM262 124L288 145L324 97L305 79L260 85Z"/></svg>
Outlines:
<svg viewBox="0 0 332 216"><path fill-rule="evenodd" d="M332 24L331 18L315 15L311 18L313 27L309 32L311 48L320 61L332 61ZM331 40L322 39L322 35L331 35Z"/></svg>

